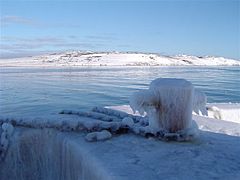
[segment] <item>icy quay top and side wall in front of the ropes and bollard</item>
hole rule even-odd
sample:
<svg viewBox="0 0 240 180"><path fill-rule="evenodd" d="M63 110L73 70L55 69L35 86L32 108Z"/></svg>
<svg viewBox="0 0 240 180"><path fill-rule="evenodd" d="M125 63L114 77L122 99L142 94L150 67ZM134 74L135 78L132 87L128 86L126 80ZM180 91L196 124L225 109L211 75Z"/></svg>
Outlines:
<svg viewBox="0 0 240 180"><path fill-rule="evenodd" d="M7 163L1 164L1 179L240 177L239 137L225 134L201 131L201 139L193 143L166 143L129 134L88 143L81 133L18 128L15 138L18 143L11 147Z"/></svg>

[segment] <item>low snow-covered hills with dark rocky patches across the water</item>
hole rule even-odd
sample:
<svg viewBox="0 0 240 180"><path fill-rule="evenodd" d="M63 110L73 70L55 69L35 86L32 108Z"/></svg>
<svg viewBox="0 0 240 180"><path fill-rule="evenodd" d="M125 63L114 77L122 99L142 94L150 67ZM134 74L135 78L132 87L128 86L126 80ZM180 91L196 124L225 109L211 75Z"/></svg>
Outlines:
<svg viewBox="0 0 240 180"><path fill-rule="evenodd" d="M71 51L25 58L1 59L0 66L240 66L240 61L212 56Z"/></svg>

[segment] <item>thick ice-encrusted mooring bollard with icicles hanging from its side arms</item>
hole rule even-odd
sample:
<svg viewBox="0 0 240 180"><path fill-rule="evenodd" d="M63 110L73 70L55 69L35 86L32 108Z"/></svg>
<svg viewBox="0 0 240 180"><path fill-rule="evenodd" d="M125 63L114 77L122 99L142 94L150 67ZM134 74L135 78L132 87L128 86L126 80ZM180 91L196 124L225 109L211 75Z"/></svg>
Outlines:
<svg viewBox="0 0 240 180"><path fill-rule="evenodd" d="M195 134L192 110L206 114L206 96L195 91L191 82L184 79L159 78L151 82L148 90L141 90L130 98L134 112L147 114L152 133ZM194 132L194 134L192 134ZM190 135L189 134L189 135ZM186 135L188 136L188 135Z"/></svg>

